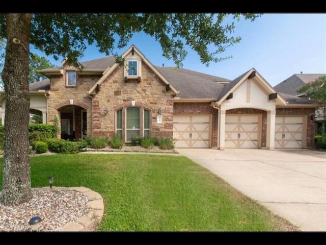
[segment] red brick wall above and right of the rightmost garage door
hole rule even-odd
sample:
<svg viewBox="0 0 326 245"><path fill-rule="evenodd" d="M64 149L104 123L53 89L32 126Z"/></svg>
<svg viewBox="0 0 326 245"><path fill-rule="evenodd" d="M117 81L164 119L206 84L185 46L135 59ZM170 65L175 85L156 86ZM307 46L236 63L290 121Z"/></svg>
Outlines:
<svg viewBox="0 0 326 245"><path fill-rule="evenodd" d="M315 121L310 116L315 115L315 108L277 108L276 115L307 115L307 148L314 147Z"/></svg>

